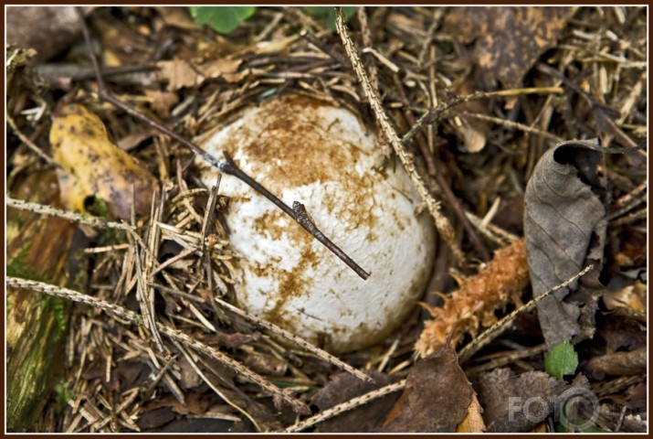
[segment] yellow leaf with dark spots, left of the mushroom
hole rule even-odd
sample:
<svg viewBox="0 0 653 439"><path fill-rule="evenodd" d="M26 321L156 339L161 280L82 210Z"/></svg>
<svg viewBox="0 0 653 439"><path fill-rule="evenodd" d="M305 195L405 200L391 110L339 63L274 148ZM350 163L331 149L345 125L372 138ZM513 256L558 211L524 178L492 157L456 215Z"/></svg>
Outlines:
<svg viewBox="0 0 653 439"><path fill-rule="evenodd" d="M84 211L88 197L104 200L111 216L129 219L150 211L156 179L111 143L100 118L79 104L60 107L50 129L62 203ZM133 187L133 198L132 198Z"/></svg>

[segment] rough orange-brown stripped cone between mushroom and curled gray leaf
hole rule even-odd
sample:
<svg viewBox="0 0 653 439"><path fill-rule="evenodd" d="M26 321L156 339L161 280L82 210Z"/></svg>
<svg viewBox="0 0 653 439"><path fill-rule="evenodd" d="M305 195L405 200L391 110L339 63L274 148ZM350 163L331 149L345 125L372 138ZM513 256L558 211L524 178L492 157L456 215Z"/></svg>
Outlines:
<svg viewBox="0 0 653 439"><path fill-rule="evenodd" d="M445 345L452 331L451 346L465 334L475 335L479 326L490 327L497 320L494 311L519 297L528 285L526 247L523 240L498 250L494 259L481 266L479 273L464 280L442 307L423 304L433 316L424 325L416 343L422 357Z"/></svg>

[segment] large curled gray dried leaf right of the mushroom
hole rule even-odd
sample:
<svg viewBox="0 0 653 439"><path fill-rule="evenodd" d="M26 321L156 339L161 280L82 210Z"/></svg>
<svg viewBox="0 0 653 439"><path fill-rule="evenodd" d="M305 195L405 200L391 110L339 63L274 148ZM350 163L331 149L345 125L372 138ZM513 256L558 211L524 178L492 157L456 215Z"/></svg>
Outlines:
<svg viewBox="0 0 653 439"><path fill-rule="evenodd" d="M549 348L572 337L594 335L600 284L596 279L606 240L606 208L597 194L604 184L596 173L600 147L565 142L547 151L535 166L524 197L524 235L533 296L538 296L588 263L593 282L575 282L538 304L540 326ZM588 277L588 279L590 279ZM563 301L569 293L574 292Z"/></svg>

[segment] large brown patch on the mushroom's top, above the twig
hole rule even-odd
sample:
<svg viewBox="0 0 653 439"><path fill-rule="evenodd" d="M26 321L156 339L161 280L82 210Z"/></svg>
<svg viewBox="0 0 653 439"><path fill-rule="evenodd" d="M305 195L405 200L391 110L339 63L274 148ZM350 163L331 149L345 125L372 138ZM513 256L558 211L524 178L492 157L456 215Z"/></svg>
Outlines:
<svg viewBox="0 0 653 439"><path fill-rule="evenodd" d="M256 157L248 160L248 174L258 176L259 181L273 193L280 194L287 187L329 182L333 176L344 174L343 190L355 188L351 192L360 195L344 206L336 201L338 197L332 195L327 197L325 208L339 218L355 220L353 227L374 229L376 216L370 205L373 200L368 194L373 189L375 178L368 173L359 175L356 171L355 164L364 154L357 145L343 142L341 148L321 148L326 139L341 135L342 121L333 123L328 131L318 129L320 114L305 110L320 105L298 96L266 102L258 113L260 121L267 121L263 128L255 133L248 126L242 126L232 134L230 141L232 145L241 145L243 154ZM234 151L230 153L233 155ZM269 177L271 174L275 177Z"/></svg>

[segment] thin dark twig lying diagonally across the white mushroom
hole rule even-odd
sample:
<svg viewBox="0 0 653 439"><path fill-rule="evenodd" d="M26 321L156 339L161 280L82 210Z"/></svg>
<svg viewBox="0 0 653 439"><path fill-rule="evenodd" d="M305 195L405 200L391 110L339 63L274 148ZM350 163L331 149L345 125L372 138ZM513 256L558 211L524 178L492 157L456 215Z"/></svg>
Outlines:
<svg viewBox="0 0 653 439"><path fill-rule="evenodd" d="M343 252L337 245L335 245L329 238L324 236L323 233L321 233L320 230L318 230L314 224L311 227L309 224L307 224L304 221L301 221L300 218L297 217L296 212L293 209L290 209L290 206L288 206L286 203L281 201L277 196L272 194L268 189L263 187L261 184L259 184L256 180L254 180L252 177L249 177L245 172L243 172L237 165L234 163L233 159L226 153L226 151L223 152L225 155L226 161L221 161L216 159L213 155L208 154L204 149L200 148L199 146L189 142L188 140L184 139L179 134L175 134L173 131L168 129L166 126L162 125L161 123L157 123L150 119L149 117L145 116L144 114L137 112L136 110L132 109L129 105L127 105L124 102L121 102L120 100L114 98L109 91L107 91L106 85L104 83L104 80L102 79L102 75L100 73L100 64L98 63L98 59L95 56L95 53L93 52L92 45L90 43L90 32L89 28L86 26L86 21L84 20L84 16L81 12L81 9L79 7L76 8L79 16L79 20L81 22L81 29L84 34L84 39L86 40L86 44L89 47L89 57L90 57L90 62L93 66L93 70L95 71L95 77L96 80L98 81L98 94L101 99L111 102L115 107L120 108L123 112L126 112L127 114L131 115L132 117L138 119L139 121L142 121L142 123L145 123L151 127L153 127L155 130L169 135L172 137L174 140L179 142L180 144L188 147L191 151L193 151L196 155L200 155L203 159L205 159L206 163L208 163L210 166L216 167L220 172L223 172L225 174L229 174L231 176L237 177L240 180L242 180L244 183L248 184L250 187L252 187L254 190L256 190L258 193L260 193L263 197L268 198L272 203L274 203L279 209L283 210L290 216L290 218L295 219L298 223L300 223L301 227L303 227L305 230L307 230L313 237L320 241L322 244L324 244L330 251L332 251L336 256L338 256L342 262L346 263L354 272L356 272L363 280L366 280L368 277L370 277L370 274L365 272L363 268L361 268L360 265L358 265L356 262L353 261L352 258L350 258L345 252Z"/></svg>

